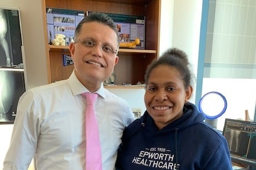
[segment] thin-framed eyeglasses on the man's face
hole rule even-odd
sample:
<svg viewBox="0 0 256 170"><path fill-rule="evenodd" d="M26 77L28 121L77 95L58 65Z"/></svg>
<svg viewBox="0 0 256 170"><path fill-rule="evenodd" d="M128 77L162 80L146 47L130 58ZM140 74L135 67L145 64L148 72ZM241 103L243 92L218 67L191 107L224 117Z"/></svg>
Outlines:
<svg viewBox="0 0 256 170"><path fill-rule="evenodd" d="M78 39L77 42L80 42L84 47L88 48L94 48L96 45L99 45L101 47L101 50L103 50L105 53L108 54L117 54L117 49L114 49L111 47L111 45L102 45L96 42L93 42L92 40L83 40L83 39ZM74 42L74 43L77 43Z"/></svg>

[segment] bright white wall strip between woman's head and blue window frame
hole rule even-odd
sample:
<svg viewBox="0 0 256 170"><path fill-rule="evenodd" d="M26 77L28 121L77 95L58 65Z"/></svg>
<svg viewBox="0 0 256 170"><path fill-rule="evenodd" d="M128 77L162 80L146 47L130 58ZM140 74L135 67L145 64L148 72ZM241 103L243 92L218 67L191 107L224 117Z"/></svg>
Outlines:
<svg viewBox="0 0 256 170"><path fill-rule="evenodd" d="M194 75L197 75L202 0L174 0L172 46L189 56ZM195 102L195 87L191 102Z"/></svg>

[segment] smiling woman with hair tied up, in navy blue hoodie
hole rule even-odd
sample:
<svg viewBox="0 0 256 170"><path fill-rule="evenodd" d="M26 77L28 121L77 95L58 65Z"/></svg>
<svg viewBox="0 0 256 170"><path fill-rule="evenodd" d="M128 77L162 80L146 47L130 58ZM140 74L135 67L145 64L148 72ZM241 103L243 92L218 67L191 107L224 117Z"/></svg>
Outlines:
<svg viewBox="0 0 256 170"><path fill-rule="evenodd" d="M124 130L117 169L232 169L227 141L188 100L187 54L168 49L145 73L146 111Z"/></svg>

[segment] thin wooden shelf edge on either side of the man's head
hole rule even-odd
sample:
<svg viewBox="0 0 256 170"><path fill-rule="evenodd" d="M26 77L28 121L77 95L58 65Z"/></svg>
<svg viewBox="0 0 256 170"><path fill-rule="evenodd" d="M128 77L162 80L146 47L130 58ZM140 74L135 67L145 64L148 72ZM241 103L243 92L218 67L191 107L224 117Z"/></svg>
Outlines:
<svg viewBox="0 0 256 170"><path fill-rule="evenodd" d="M68 46L63 45L48 45L50 51L67 51L69 50ZM144 53L144 54L157 54L157 50L142 50L142 49L119 49L118 53L126 54L126 53Z"/></svg>

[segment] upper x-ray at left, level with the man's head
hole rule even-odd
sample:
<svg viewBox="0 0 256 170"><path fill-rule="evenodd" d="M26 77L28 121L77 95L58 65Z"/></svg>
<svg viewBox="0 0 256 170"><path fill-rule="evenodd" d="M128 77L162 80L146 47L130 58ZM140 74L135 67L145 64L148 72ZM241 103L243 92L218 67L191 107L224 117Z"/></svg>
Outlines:
<svg viewBox="0 0 256 170"><path fill-rule="evenodd" d="M0 66L22 63L21 45L18 10L0 8Z"/></svg>

